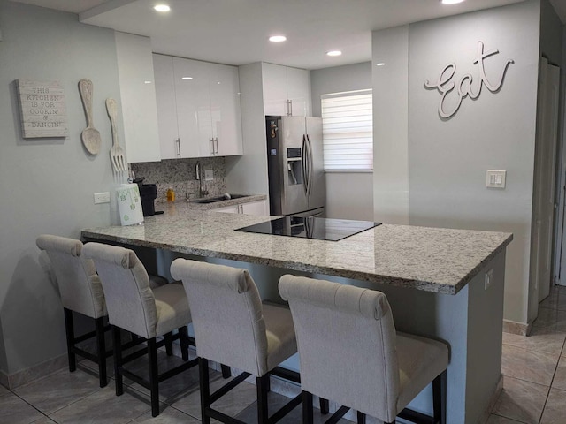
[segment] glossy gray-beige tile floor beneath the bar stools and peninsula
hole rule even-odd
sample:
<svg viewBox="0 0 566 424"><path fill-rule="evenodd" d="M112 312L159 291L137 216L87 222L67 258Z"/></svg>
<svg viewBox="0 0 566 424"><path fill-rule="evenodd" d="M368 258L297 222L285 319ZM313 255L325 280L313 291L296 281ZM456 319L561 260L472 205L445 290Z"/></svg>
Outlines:
<svg viewBox="0 0 566 424"><path fill-rule="evenodd" d="M565 341L566 287L556 287L540 304L539 319L533 325L532 336L503 334L503 390L487 424L566 423ZM168 367L180 359L167 357L160 352L160 361L164 367ZM222 382L222 378L219 373L213 375L214 389ZM85 360L74 373L69 373L66 368L61 369L12 391L0 386L0 424L198 424L200 405L197 379L197 370L193 368L163 382L160 385L162 412L157 418L152 418L148 390L126 380L125 393L118 398L114 396L113 380L107 387L99 388L96 368ZM237 390L220 399L215 407L253 423L255 396L255 386L244 382ZM284 397L272 393L270 404L275 406L283 400ZM368 424L375 422L368 421ZM301 422L301 408L295 408L281 422ZM316 416L316 422L321 422L319 415ZM340 422L346 424L349 421Z"/></svg>

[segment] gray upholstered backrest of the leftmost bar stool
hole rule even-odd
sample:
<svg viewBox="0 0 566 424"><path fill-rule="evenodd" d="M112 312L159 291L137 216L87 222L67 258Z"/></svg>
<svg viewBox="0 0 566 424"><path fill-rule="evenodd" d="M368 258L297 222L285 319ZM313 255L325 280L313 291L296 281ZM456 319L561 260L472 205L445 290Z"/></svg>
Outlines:
<svg viewBox="0 0 566 424"><path fill-rule="evenodd" d="M81 255L82 242L43 234L35 243L50 258L63 307L92 318L104 316L103 286L94 262Z"/></svg>

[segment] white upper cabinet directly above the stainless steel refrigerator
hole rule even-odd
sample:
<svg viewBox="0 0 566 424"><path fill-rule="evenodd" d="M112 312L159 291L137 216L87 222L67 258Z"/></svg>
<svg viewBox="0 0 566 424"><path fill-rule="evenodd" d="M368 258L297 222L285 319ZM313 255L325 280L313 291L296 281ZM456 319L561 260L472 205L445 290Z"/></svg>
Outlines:
<svg viewBox="0 0 566 424"><path fill-rule="evenodd" d="M310 116L309 71L262 64L265 115Z"/></svg>

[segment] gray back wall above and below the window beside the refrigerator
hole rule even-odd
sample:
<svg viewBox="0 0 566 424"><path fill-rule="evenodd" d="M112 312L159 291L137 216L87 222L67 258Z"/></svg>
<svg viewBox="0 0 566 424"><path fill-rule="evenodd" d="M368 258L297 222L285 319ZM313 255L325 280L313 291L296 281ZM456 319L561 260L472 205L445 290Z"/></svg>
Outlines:
<svg viewBox="0 0 566 424"><path fill-rule="evenodd" d="M371 62L310 72L312 116L320 117L320 96L371 88ZM371 172L327 172L326 216L373 220Z"/></svg>

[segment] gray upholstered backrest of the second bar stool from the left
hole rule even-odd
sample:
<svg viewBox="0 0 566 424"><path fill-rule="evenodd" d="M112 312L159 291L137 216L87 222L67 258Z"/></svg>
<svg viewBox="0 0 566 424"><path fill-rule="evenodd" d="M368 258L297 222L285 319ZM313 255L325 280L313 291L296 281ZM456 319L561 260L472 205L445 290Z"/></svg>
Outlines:
<svg viewBox="0 0 566 424"><path fill-rule="evenodd" d="M87 243L83 253L95 261L103 284L108 320L145 338L156 337L157 307L149 276L134 251Z"/></svg>

